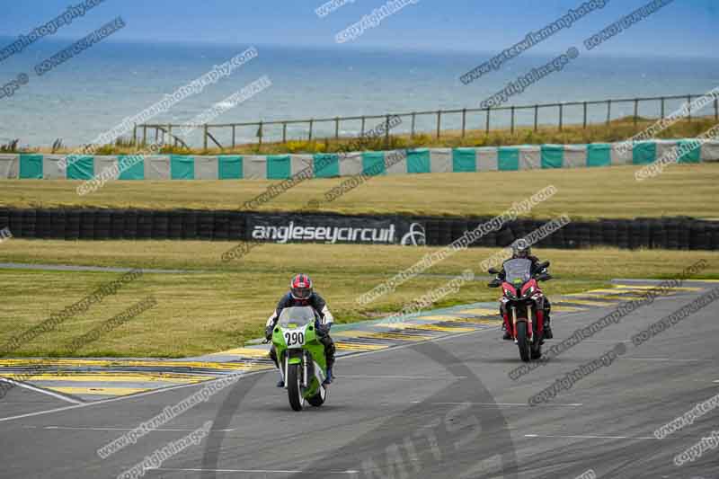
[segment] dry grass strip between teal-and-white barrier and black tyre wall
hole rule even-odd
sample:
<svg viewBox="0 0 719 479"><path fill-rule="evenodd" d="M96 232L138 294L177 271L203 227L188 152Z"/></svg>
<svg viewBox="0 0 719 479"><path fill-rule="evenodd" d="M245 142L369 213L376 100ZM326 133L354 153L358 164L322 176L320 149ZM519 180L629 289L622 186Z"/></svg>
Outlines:
<svg viewBox="0 0 719 479"><path fill-rule="evenodd" d="M295 211L318 200L317 211L347 214L406 213L432 216L489 216L549 184L555 196L534 208L532 217L568 213L596 217L719 217L719 165L672 165L660 176L636 182L636 166L529 170L520 172L431 173L382 176L360 184L333 202L324 193L346 179L299 183L262 211ZM0 206L19 208L200 208L238 209L273 181L110 182L100 191L75 193L68 180L4 181Z"/></svg>

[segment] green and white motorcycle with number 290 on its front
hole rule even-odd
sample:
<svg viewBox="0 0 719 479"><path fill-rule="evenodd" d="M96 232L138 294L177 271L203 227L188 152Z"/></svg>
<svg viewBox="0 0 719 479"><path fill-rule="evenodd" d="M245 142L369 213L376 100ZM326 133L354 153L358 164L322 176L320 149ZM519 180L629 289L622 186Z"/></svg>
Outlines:
<svg viewBox="0 0 719 479"><path fill-rule="evenodd" d="M286 307L272 333L289 405L295 411L302 411L305 401L321 406L327 398L327 389L322 386L327 364L315 324L311 306Z"/></svg>

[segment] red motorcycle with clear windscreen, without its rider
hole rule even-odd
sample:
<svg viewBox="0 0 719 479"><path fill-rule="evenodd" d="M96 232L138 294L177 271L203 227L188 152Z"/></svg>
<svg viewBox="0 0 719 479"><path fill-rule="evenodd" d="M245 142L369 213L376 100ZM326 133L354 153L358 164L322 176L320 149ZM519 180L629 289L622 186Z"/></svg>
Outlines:
<svg viewBox="0 0 719 479"><path fill-rule="evenodd" d="M514 343L519 347L519 357L529 359L542 357L544 342L544 293L538 281L547 281L552 277L546 273L549 262L537 265L537 273L532 274L532 262L517 258L504 262L504 279L494 279L490 288L502 287L502 316L504 327L510 332ZM499 274L494 268L490 274Z"/></svg>

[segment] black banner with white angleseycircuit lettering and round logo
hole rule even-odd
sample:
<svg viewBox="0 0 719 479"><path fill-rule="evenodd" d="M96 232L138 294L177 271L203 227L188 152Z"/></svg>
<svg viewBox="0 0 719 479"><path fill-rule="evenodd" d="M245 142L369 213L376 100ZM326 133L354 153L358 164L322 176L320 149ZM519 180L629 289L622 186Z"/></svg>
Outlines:
<svg viewBox="0 0 719 479"><path fill-rule="evenodd" d="M425 244L424 226L403 217L250 214L247 241L326 244Z"/></svg>

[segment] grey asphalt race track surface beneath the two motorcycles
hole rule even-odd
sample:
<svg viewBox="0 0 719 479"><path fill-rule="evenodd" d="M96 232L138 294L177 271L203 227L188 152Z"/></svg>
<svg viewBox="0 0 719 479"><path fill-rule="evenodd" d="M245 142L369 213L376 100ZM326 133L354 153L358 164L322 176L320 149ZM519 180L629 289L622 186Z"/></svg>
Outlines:
<svg viewBox="0 0 719 479"><path fill-rule="evenodd" d="M719 408L665 439L653 431L719 393L719 301L641 346L629 341L700 294L658 298L516 381L508 373L520 365L517 349L496 328L342 358L327 403L303 412L289 409L276 372L253 374L106 459L97 448L202 385L79 405L15 387L0 404L0 477L117 477L213 421L200 445L144 477L572 479L591 470L716 479L719 448L683 466L672 460L719 429ZM555 318L553 341L608 311ZM618 342L626 353L611 365L528 405Z"/></svg>

